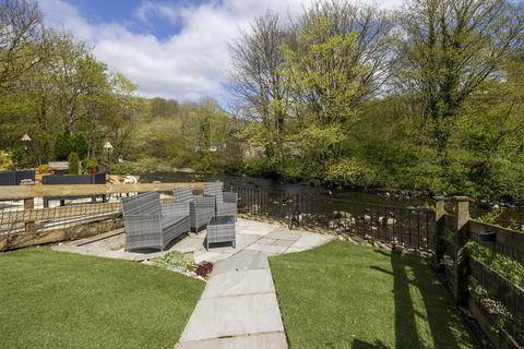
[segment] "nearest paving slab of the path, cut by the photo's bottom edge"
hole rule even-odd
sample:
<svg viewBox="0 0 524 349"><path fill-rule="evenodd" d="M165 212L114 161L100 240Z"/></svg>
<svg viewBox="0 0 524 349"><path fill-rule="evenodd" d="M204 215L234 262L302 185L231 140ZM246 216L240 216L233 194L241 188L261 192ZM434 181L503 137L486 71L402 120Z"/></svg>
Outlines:
<svg viewBox="0 0 524 349"><path fill-rule="evenodd" d="M179 342L175 349L287 349L283 332Z"/></svg>

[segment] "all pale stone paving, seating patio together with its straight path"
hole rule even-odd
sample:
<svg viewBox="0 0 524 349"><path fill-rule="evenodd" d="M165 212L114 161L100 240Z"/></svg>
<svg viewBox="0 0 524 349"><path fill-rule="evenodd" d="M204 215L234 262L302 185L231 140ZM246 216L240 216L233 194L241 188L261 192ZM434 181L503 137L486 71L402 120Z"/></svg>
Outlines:
<svg viewBox="0 0 524 349"><path fill-rule="evenodd" d="M123 251L123 230L56 245L56 251L110 258L146 261L179 251L195 263L214 268L176 349L285 349L287 340L267 256L300 252L333 237L290 230L282 226L239 218L237 248L217 245L206 251L205 231L190 233L167 251Z"/></svg>

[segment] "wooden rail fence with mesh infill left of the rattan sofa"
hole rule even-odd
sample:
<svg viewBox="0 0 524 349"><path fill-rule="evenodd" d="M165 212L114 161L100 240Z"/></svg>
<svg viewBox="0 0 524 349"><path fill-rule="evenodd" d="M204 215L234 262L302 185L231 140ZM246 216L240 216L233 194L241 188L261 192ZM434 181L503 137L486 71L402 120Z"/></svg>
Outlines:
<svg viewBox="0 0 524 349"><path fill-rule="evenodd" d="M121 203L81 203L60 207L35 207L37 197L86 197L102 194L171 192L176 188L203 189L203 183L139 183L0 186L0 202L23 201L22 207L0 209L0 251L98 233L121 225ZM112 222L111 222L112 221Z"/></svg>

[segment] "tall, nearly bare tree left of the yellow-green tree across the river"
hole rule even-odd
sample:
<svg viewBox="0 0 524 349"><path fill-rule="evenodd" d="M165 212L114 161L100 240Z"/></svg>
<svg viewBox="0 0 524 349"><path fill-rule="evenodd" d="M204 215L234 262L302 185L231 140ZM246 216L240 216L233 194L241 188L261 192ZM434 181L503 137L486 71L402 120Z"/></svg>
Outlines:
<svg viewBox="0 0 524 349"><path fill-rule="evenodd" d="M260 120L265 129L264 147L269 158L275 158L277 171L288 108L288 91L281 65L288 31L278 15L267 12L254 20L249 32L243 32L231 46L231 93L243 105L246 116Z"/></svg>

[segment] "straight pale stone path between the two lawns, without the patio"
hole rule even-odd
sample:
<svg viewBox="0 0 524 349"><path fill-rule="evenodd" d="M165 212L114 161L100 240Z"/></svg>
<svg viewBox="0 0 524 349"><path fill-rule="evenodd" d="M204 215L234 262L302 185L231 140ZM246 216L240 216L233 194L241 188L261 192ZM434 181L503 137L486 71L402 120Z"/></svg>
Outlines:
<svg viewBox="0 0 524 349"><path fill-rule="evenodd" d="M215 264L175 348L287 348L265 253L245 250Z"/></svg>

